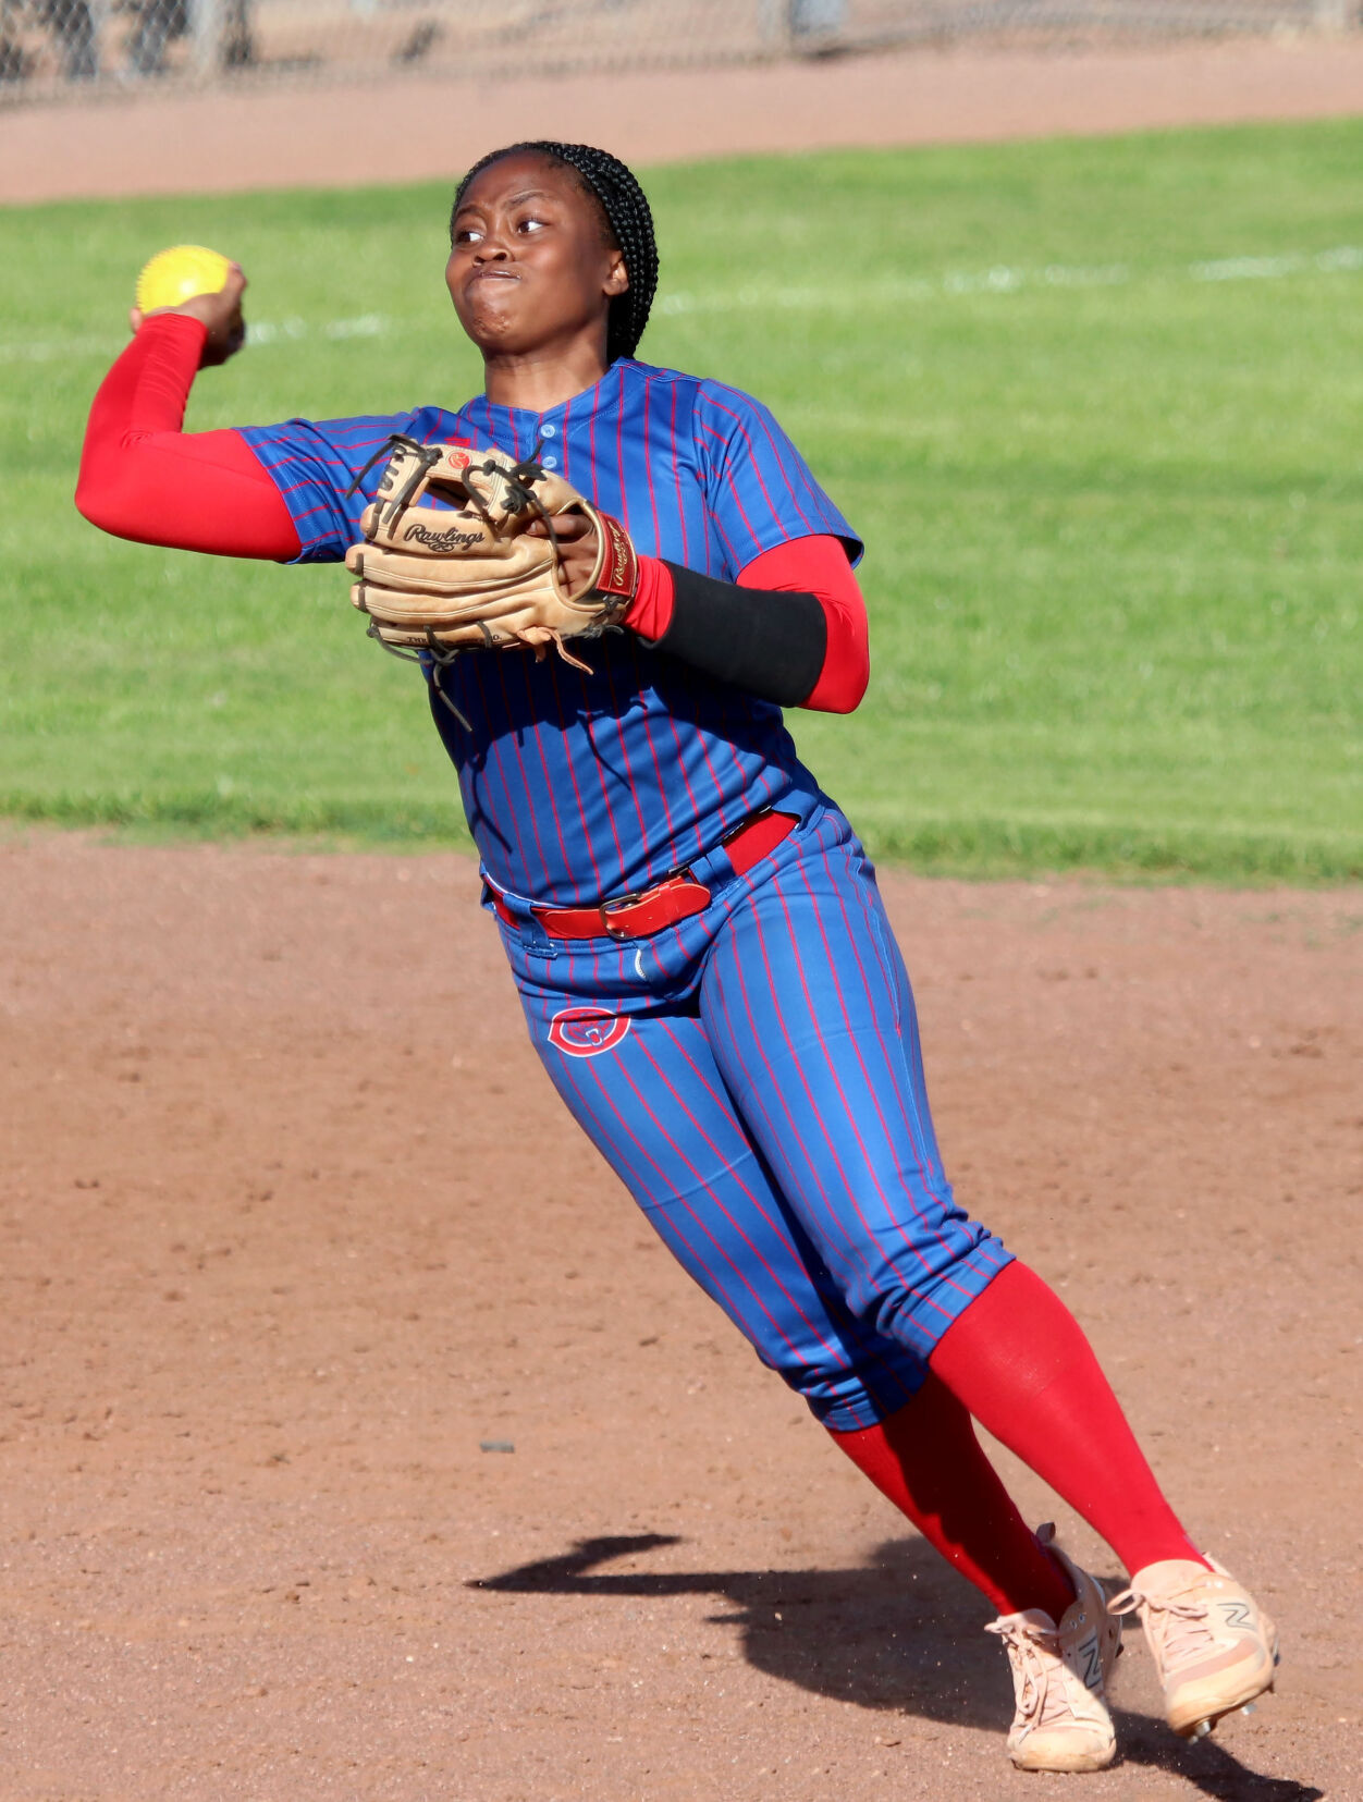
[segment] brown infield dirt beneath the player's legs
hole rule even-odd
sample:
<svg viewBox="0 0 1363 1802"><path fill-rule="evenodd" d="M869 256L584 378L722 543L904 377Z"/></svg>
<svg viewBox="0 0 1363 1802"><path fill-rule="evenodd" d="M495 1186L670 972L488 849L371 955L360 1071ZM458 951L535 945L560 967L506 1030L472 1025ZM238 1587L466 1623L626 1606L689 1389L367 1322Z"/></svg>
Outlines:
<svg viewBox="0 0 1363 1802"><path fill-rule="evenodd" d="M1127 1759L1067 1782L1363 1795L1363 894L887 896L963 1198L1284 1625L1201 1748L1132 1645ZM557 1106L469 860L25 833L0 939L4 1798L1060 1782L1004 1761L984 1607Z"/></svg>

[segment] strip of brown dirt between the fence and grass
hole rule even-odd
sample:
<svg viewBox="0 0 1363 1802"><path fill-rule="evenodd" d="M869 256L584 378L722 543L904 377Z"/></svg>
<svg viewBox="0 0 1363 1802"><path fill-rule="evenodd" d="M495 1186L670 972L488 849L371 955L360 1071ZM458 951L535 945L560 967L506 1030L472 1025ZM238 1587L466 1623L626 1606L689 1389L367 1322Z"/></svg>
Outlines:
<svg viewBox="0 0 1363 1802"><path fill-rule="evenodd" d="M525 81L388 77L0 108L0 202L438 180L525 135L590 137L631 162L667 162L1359 110L1359 34L1139 50L961 47Z"/></svg>

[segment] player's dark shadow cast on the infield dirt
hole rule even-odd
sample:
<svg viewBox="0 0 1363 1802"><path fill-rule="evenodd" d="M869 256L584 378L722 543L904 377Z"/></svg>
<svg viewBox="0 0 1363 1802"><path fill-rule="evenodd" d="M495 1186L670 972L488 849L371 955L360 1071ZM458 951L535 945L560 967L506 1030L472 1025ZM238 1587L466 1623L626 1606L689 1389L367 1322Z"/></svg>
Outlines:
<svg viewBox="0 0 1363 1802"><path fill-rule="evenodd" d="M680 1544L665 1534L582 1539L573 1552L472 1582L521 1595L716 1595L710 1620L743 1631L750 1663L786 1683L864 1708L894 1708L999 1734L1008 1725L1008 1676L983 1634L981 1602L921 1539L891 1539L860 1570L835 1571L599 1571ZM1163 1721L1114 1708L1125 1764L1183 1777L1217 1802L1320 1802L1322 1789L1260 1777L1213 1739L1190 1746Z"/></svg>

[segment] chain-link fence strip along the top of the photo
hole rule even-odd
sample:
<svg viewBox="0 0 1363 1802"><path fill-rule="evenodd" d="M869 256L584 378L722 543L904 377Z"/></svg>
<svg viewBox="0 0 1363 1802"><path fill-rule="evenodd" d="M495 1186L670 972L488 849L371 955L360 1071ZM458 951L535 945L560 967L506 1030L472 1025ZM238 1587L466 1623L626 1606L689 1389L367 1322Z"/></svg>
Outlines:
<svg viewBox="0 0 1363 1802"><path fill-rule="evenodd" d="M496 77L1361 22L1363 0L0 0L0 105L151 85Z"/></svg>

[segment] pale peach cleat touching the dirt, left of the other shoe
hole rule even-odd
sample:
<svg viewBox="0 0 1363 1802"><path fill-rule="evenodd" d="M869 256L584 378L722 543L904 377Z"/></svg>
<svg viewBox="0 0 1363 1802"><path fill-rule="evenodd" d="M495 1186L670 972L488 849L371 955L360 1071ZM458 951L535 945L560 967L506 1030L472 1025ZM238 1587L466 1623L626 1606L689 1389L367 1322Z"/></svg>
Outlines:
<svg viewBox="0 0 1363 1802"><path fill-rule="evenodd" d="M1020 1771L1102 1771L1116 1757L1105 1690L1121 1651L1121 1624L1109 1613L1098 1580L1051 1544L1053 1535L1049 1524L1037 1534L1075 1586L1060 1625L1028 1607L984 1629L1004 1642L1013 1670L1017 1712L1008 1755Z"/></svg>

